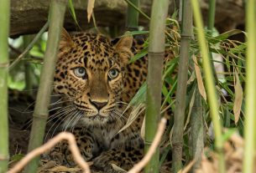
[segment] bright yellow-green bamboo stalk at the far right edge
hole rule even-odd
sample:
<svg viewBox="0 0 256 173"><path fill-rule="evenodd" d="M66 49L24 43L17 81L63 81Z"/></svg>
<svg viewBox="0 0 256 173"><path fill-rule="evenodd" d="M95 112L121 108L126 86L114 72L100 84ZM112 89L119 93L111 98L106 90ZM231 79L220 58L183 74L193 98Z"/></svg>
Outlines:
<svg viewBox="0 0 256 173"><path fill-rule="evenodd" d="M247 57L246 57L246 102L245 102L245 148L243 155L243 172L253 172L254 155L255 153L255 135L256 135L256 2L248 0L246 2L246 31L248 33L247 42ZM254 167L255 168L255 167Z"/></svg>

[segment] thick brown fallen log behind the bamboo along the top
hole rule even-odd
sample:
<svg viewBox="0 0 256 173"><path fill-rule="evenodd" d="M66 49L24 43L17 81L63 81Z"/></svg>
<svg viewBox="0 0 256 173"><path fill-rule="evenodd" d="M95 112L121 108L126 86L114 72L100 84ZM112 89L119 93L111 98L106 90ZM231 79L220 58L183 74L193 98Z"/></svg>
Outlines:
<svg viewBox="0 0 256 173"><path fill-rule="evenodd" d="M169 14L179 7L179 1L170 1ZM206 17L208 4L206 0L201 1L203 16ZM217 12L215 26L222 33L244 23L243 3L238 0L217 0ZM73 1L76 8L76 18L83 30L93 27L93 23L87 23L86 8L87 1ZM11 31L10 35L15 37L21 34L37 33L46 23L49 12L49 0L11 0ZM152 1L141 0L140 9L150 14ZM125 16L127 3L120 0L97 0L95 1L95 18L99 27L118 27L125 30ZM103 15L102 15L103 14ZM206 22L206 18L205 22ZM139 25L149 27L149 20L142 15L139 16ZM224 24L225 23L225 24ZM76 23L71 17L69 10L65 13L65 28L76 31Z"/></svg>

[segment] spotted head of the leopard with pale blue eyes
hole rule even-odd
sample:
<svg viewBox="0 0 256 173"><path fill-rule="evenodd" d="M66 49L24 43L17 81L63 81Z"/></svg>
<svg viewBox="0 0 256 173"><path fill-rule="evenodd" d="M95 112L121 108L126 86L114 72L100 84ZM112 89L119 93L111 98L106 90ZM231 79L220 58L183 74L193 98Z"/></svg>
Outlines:
<svg viewBox="0 0 256 173"><path fill-rule="evenodd" d="M70 116L87 125L103 125L122 114L118 100L132 44L132 37L112 43L99 34L62 32L54 90L68 98Z"/></svg>

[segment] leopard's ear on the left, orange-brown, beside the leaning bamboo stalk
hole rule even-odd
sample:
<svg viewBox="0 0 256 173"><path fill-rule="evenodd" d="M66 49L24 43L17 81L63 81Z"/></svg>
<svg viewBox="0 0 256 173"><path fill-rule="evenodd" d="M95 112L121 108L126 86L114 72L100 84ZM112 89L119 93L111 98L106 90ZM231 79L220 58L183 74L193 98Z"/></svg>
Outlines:
<svg viewBox="0 0 256 173"><path fill-rule="evenodd" d="M60 50L70 49L75 46L75 43L73 42L71 35L67 33L65 28L62 28L60 33Z"/></svg>

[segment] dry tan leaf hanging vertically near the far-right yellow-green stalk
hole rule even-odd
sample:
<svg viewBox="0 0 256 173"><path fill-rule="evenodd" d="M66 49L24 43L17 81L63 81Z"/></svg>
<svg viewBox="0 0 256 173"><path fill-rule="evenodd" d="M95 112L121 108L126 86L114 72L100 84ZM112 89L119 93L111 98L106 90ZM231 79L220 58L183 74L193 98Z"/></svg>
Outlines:
<svg viewBox="0 0 256 173"><path fill-rule="evenodd" d="M240 117L240 111L241 111L241 106L242 106L242 100L243 100L243 88L240 83L240 79L238 76L238 71L235 69L235 101L234 101L234 107L233 107L233 112L235 115L235 124L238 124L238 120Z"/></svg>

